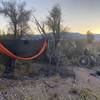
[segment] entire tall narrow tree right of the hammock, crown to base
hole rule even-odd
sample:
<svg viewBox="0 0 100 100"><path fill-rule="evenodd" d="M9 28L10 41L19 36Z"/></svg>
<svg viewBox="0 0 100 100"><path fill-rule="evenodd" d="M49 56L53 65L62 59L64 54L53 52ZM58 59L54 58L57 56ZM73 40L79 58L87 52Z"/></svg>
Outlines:
<svg viewBox="0 0 100 100"><path fill-rule="evenodd" d="M56 48L60 41L60 33L61 33L61 8L59 5L55 5L51 11L49 12L49 16L47 17L46 25L48 29L51 31L50 41L52 46L48 49L48 57L50 62L57 62ZM55 61L54 61L55 60Z"/></svg>

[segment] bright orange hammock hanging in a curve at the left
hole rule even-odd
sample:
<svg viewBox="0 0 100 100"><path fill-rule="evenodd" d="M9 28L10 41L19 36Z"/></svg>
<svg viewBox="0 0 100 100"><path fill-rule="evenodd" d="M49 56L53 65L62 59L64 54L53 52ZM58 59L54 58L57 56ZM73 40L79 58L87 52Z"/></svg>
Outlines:
<svg viewBox="0 0 100 100"><path fill-rule="evenodd" d="M0 43L0 53L3 53L3 54L5 54L5 55L7 55L10 58L15 59L15 60L32 60L32 59L35 59L35 58L39 57L40 55L42 55L43 52L45 51L45 49L47 48L47 45L48 45L48 43L45 40L42 48L40 49L40 51L36 55L33 55L31 57L19 57L19 56L16 56L11 51L9 51L2 43Z"/></svg>

